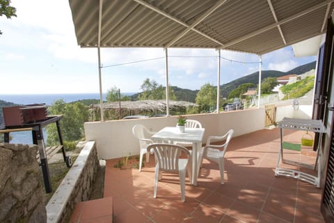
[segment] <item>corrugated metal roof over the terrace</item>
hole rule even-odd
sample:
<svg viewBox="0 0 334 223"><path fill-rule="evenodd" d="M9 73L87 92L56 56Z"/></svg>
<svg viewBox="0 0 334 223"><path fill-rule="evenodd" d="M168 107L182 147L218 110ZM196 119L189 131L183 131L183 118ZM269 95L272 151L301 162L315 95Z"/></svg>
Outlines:
<svg viewBox="0 0 334 223"><path fill-rule="evenodd" d="M255 54L325 33L334 5L334 0L101 1L101 47L196 47ZM97 47L100 1L70 0L70 8L78 45Z"/></svg>

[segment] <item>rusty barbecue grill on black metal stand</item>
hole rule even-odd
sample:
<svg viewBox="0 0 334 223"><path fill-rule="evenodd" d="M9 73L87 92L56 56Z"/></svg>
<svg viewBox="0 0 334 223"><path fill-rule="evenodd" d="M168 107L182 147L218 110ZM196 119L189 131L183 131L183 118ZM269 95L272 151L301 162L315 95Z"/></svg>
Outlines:
<svg viewBox="0 0 334 223"><path fill-rule="evenodd" d="M52 192L47 157L51 157L51 155L54 155L61 149L67 167L72 166L71 158L66 155L63 138L61 136L61 125L59 121L63 116L47 116L47 106L44 104L3 107L2 110L5 127L0 130L0 133L4 134L4 141L9 143L10 132L27 130L32 132L33 144L38 145L36 158L40 160L40 166L42 167L45 191L47 193ZM45 148L42 128L51 123L56 123L61 145Z"/></svg>

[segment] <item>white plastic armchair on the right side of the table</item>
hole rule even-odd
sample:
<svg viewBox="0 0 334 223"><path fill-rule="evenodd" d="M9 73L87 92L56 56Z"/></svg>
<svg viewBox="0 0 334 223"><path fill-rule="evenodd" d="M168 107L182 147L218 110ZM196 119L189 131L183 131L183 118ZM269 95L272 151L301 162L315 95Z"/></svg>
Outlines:
<svg viewBox="0 0 334 223"><path fill-rule="evenodd" d="M221 171L221 184L224 183L224 155L226 153L226 150L228 148L228 144L232 138L234 130L228 130L226 134L224 134L222 137L214 137L209 136L207 138L207 144L206 146L202 147L200 151L200 164L202 164L203 158L207 160L211 160L218 163L219 170ZM225 140L225 143L222 145L212 145L211 141L212 139L215 139L216 141L223 141Z"/></svg>

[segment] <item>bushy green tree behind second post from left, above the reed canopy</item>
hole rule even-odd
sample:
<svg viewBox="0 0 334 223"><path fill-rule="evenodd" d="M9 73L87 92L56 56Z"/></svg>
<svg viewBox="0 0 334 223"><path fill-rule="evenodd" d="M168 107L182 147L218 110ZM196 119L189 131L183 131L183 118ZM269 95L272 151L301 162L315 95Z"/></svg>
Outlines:
<svg viewBox="0 0 334 223"><path fill-rule="evenodd" d="M166 99L166 88L161 84L158 85L154 79L150 81L150 78L145 79L143 84L141 84L141 89L143 92L138 96L139 100L164 100ZM170 100L176 100L175 93L173 89L168 86L168 93Z"/></svg>

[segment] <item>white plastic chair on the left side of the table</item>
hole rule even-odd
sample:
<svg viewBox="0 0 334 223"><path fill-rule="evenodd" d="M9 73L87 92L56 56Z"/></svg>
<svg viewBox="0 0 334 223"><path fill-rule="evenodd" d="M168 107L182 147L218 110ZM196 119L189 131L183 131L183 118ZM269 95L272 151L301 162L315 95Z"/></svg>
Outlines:
<svg viewBox="0 0 334 223"><path fill-rule="evenodd" d="M153 141L149 139L155 132L151 132L144 125L134 125L132 133L139 140L140 153L139 153L139 172L141 171L141 163L143 162L143 155L146 154L146 162L150 161L150 153L148 153L148 145Z"/></svg>

